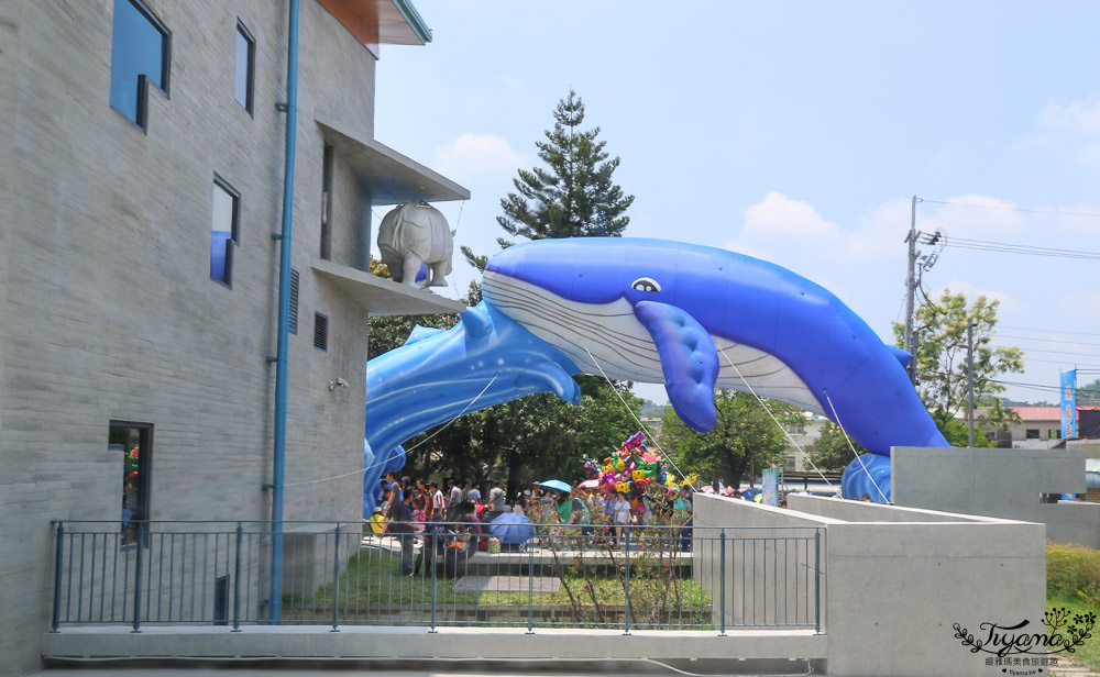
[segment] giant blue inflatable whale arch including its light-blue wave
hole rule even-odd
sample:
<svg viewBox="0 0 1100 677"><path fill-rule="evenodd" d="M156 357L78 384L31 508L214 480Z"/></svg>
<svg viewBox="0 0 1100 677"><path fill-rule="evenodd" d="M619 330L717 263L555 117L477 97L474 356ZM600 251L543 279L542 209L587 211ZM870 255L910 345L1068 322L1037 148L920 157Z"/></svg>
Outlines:
<svg viewBox="0 0 1100 677"><path fill-rule="evenodd" d="M889 500L891 446L948 446L906 377L910 356L829 291L774 264L659 240L539 240L490 259L483 296L431 344L416 341L367 364L374 448L457 415L491 378L477 409L536 391L575 400L563 374L579 371L663 382L676 414L698 431L716 422L715 388L824 414L872 452L845 473L845 496ZM429 355L436 368L419 374ZM376 371L387 357L388 371ZM402 411L416 398L389 403L389 379L406 397L420 388L451 403L425 407L403 426L387 417L409 418ZM400 439L375 444L372 419L381 419L373 428L400 429Z"/></svg>

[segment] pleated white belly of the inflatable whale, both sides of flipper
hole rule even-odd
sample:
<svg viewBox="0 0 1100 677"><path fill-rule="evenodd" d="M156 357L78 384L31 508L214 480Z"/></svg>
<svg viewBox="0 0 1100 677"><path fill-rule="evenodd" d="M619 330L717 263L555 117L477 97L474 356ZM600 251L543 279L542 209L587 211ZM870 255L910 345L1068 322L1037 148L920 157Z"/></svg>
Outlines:
<svg viewBox="0 0 1100 677"><path fill-rule="evenodd" d="M626 299L582 303L537 285L485 271L482 293L494 307L553 345L587 374L664 382L649 332ZM774 355L711 334L718 348L718 388L748 391L824 413L806 384Z"/></svg>

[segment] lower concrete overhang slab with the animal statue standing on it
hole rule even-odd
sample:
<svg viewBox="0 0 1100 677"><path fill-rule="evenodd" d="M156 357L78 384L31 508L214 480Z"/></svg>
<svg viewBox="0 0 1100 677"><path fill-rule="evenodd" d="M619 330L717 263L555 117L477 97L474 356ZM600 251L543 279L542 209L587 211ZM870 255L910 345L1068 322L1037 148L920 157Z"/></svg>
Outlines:
<svg viewBox="0 0 1100 677"><path fill-rule="evenodd" d="M331 260L315 258L309 267L372 315L435 315L466 310L462 301L444 299L427 289L406 287Z"/></svg>

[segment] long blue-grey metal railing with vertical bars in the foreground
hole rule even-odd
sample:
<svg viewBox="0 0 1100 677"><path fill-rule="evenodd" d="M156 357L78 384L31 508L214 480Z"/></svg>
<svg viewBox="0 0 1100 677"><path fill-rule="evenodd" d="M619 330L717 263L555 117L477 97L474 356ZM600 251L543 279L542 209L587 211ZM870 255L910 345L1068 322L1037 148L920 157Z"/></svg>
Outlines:
<svg viewBox="0 0 1100 677"><path fill-rule="evenodd" d="M54 632L272 622L270 522L54 524ZM822 632L820 529L515 529L284 522L279 622Z"/></svg>

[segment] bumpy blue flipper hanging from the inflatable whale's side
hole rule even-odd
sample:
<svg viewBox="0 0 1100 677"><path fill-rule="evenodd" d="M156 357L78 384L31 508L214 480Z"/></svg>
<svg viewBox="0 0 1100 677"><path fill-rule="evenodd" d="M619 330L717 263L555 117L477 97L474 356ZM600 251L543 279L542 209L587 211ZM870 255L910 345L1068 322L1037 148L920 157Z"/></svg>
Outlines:
<svg viewBox="0 0 1100 677"><path fill-rule="evenodd" d="M668 303L638 301L634 314L657 345L664 389L676 415L700 432L714 428L718 422L714 410L718 351L711 333L691 313Z"/></svg>

